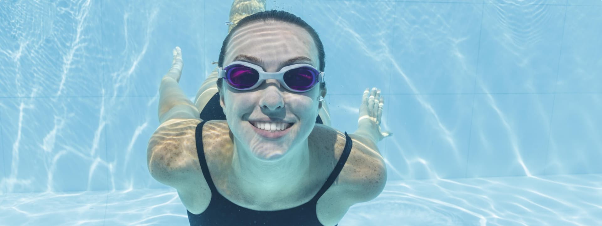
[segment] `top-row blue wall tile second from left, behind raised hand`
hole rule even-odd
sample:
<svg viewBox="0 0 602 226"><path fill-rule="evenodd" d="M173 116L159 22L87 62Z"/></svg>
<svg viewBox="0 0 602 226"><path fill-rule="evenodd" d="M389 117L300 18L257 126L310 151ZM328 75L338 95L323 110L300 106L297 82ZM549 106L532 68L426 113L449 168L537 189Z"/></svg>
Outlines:
<svg viewBox="0 0 602 226"><path fill-rule="evenodd" d="M137 3L102 4L103 17L110 18L102 27L105 97L157 94L176 46L184 60L180 86L194 96L204 79L203 2Z"/></svg>

